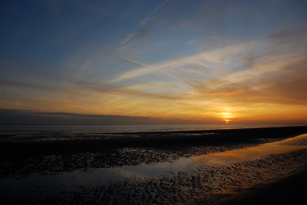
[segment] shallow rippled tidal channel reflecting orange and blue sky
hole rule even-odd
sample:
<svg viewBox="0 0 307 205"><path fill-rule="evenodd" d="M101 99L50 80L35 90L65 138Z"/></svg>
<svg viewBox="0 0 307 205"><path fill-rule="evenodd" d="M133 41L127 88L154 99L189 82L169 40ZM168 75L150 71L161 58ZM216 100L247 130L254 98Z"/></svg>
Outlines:
<svg viewBox="0 0 307 205"><path fill-rule="evenodd" d="M155 152L126 148L118 157L137 153L139 158L150 158ZM1 200L5 204L188 204L297 169L307 157L307 134L208 153L179 158L166 153L165 160L118 166L96 165L101 163L97 153L32 158L16 165L14 175L0 179ZM69 170L78 161L83 165ZM13 165L6 166L13 170Z"/></svg>

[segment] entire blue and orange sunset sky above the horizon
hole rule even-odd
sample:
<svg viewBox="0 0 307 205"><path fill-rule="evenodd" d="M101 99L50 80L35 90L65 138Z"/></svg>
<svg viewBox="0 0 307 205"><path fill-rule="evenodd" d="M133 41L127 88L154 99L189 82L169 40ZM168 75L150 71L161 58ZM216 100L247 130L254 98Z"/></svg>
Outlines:
<svg viewBox="0 0 307 205"><path fill-rule="evenodd" d="M306 1L0 5L0 123L307 123Z"/></svg>

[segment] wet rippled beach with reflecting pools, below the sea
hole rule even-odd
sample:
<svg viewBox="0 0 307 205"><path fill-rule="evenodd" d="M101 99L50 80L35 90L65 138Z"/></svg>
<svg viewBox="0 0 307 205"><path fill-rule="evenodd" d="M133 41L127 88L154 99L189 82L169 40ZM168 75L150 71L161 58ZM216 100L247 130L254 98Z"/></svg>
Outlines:
<svg viewBox="0 0 307 205"><path fill-rule="evenodd" d="M256 203L259 196L290 200L304 190L299 185L305 180L306 133L307 126L292 126L2 135L1 201L244 204Z"/></svg>

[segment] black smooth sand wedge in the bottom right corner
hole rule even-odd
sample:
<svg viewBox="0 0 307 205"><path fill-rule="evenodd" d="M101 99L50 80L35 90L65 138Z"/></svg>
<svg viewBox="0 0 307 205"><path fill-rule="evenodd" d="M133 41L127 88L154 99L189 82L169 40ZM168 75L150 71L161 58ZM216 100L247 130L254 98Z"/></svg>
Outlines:
<svg viewBox="0 0 307 205"><path fill-rule="evenodd" d="M193 205L301 204L307 192L307 167L276 179L244 189L217 193Z"/></svg>

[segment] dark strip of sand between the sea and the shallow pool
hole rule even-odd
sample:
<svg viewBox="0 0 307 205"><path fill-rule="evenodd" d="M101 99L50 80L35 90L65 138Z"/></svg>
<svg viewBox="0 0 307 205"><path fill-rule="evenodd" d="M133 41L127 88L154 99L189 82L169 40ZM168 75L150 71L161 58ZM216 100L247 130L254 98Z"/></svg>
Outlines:
<svg viewBox="0 0 307 205"><path fill-rule="evenodd" d="M192 131L158 131L130 132L105 134L79 134L69 140L12 140L0 142L1 161L7 158L40 156L101 150L105 148L118 149L122 147L174 147L194 146L197 144L248 143L251 140L270 139L268 142L280 141L286 138L307 133L307 126L291 127L261 127L239 129L215 129ZM18 136L18 135L17 135ZM29 135L35 139L47 135ZM60 135L63 136L63 135ZM84 138L83 138L84 137ZM10 138L10 136L1 136Z"/></svg>

